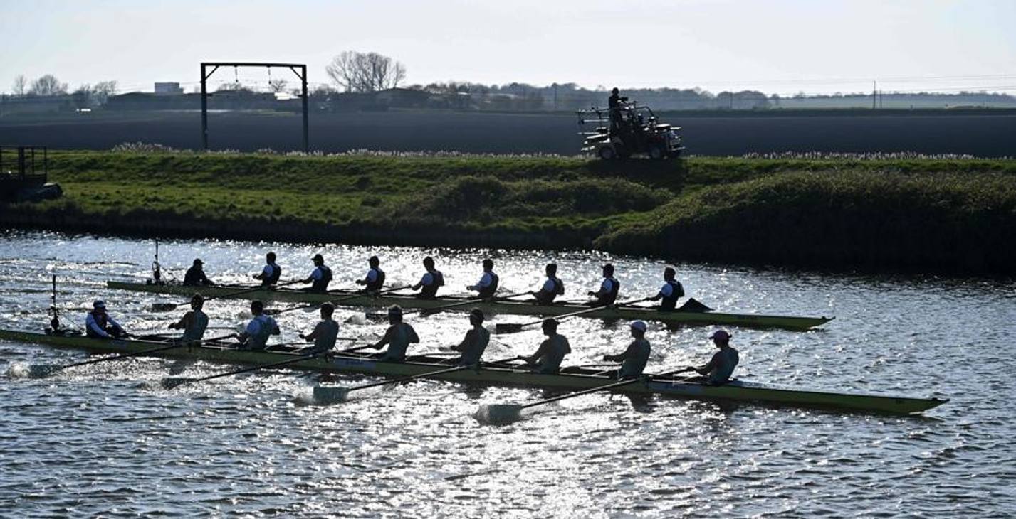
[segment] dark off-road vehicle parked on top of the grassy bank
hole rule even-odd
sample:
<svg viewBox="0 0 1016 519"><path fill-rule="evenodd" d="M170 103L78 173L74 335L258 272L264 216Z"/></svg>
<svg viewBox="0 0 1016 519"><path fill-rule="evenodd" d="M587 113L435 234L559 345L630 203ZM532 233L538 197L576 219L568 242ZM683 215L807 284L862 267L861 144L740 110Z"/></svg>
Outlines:
<svg viewBox="0 0 1016 519"><path fill-rule="evenodd" d="M678 158L685 149L681 127L661 123L644 104L622 102L614 109L592 107L577 114L582 152L604 160L635 155L655 160Z"/></svg>

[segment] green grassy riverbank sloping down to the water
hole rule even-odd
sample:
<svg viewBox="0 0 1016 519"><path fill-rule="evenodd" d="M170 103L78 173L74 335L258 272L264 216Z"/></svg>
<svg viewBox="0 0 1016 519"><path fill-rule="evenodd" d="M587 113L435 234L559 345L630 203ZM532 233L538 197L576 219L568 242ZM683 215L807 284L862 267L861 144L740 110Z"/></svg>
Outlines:
<svg viewBox="0 0 1016 519"><path fill-rule="evenodd" d="M1016 161L56 152L7 226L506 247L866 270L1016 271Z"/></svg>

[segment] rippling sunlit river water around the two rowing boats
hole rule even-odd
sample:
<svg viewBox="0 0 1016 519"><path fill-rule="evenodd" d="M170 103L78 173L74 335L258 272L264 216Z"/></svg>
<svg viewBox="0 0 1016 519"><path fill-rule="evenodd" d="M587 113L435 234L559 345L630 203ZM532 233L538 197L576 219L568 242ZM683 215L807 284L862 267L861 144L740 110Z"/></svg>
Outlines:
<svg viewBox="0 0 1016 519"><path fill-rule="evenodd" d="M163 242L161 261L179 279L200 256L213 279L241 282L269 249L283 279L306 276L321 251L335 272L332 288L352 286L372 253L391 283L416 282L431 254L448 293L474 283L488 254L509 292L535 287L544 264L557 261L569 297L598 283L605 261L631 297L654 293L665 266L579 251L212 240ZM181 312L146 308L179 299L105 288L107 280L145 279L152 252L152 242L134 239L0 234L0 326L44 327L56 275L65 323L83 322L91 300L103 298L129 330L165 327ZM85 354L0 342L0 514L1016 514L1016 282L677 267L688 295L719 310L836 316L804 333L732 329L745 379L951 401L900 418L591 394L491 426L472 418L481 404L548 393L422 380L315 405L306 403L314 376L285 370L171 392L157 381L228 367L136 359L31 379L18 376L26 365ZM206 311L211 325L235 326L247 319L246 306L214 301ZM336 314L341 336L383 332L363 309ZM456 343L468 327L464 315L410 319L422 338L416 351ZM284 314L275 341L296 341L314 320ZM712 352L711 327L649 324L649 371L704 362ZM574 318L561 331L574 350L566 364L598 362L628 341L623 322ZM528 354L539 339L538 330L497 336L488 355Z"/></svg>

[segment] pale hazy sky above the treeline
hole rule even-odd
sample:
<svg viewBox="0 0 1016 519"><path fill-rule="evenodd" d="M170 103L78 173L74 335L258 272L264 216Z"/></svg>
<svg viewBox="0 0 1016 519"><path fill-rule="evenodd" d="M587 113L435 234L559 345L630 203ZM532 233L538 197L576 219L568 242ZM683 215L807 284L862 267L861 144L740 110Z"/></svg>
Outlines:
<svg viewBox="0 0 1016 519"><path fill-rule="evenodd" d="M1016 0L0 0L0 91L46 73L190 90L202 60L307 63L326 82L356 50L409 83L1016 92L1014 27Z"/></svg>

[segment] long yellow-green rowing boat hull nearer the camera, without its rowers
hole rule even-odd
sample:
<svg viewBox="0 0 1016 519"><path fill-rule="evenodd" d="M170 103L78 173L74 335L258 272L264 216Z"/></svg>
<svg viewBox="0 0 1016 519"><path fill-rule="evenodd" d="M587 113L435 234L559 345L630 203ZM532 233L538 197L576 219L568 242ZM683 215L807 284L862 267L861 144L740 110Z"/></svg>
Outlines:
<svg viewBox="0 0 1016 519"><path fill-rule="evenodd" d="M85 350L94 353L131 353L150 349L150 341L168 339L154 336L145 343L132 340L90 339L86 337L64 337L33 331L0 329L0 340L21 343L37 343L57 348ZM297 355L292 349L279 351L243 351L220 343L204 346L185 346L157 353L160 357L201 359L230 364L258 365L293 359ZM290 367L300 370L356 373L383 377L406 377L421 375L448 367L447 358L418 356L410 362L378 362L376 357L359 354L336 355L334 357L307 359ZM514 385L539 387L556 390L581 390L602 386L610 379L600 372L588 369L569 369L559 374L538 374L511 366L485 366L483 369L465 369L434 375L432 378L462 383ZM911 415L923 413L948 401L942 398L915 398L909 396L886 396L862 393L802 390L757 382L735 380L724 385L712 386L691 382L679 377L647 377L646 380L619 387L619 392L633 394L660 394L664 396L763 402L778 405L836 409L855 412L888 413Z"/></svg>

